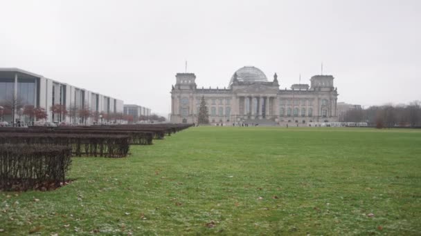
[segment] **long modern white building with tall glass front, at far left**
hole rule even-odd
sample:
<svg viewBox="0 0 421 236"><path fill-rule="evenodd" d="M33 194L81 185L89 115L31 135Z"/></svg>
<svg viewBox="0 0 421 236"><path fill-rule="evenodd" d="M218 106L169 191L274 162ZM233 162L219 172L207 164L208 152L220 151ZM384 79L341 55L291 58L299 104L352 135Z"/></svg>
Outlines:
<svg viewBox="0 0 421 236"><path fill-rule="evenodd" d="M91 112L101 113L104 117L113 113L123 113L123 101L113 97L101 95L83 88L71 86L53 79L48 79L33 72L19 68L0 68L0 106L3 107L4 121L12 121L12 114L7 110L10 104L19 104L15 110L15 121L22 118L19 110L24 106L44 108L47 113L46 121L85 123L83 118L71 118L71 115L55 115L50 108L53 105L62 105L66 109L89 109ZM21 112L20 112L21 113ZM101 115L102 116L102 115ZM1 118L0 118L1 119ZM87 118L86 124L93 124L98 117Z"/></svg>

